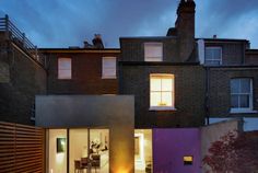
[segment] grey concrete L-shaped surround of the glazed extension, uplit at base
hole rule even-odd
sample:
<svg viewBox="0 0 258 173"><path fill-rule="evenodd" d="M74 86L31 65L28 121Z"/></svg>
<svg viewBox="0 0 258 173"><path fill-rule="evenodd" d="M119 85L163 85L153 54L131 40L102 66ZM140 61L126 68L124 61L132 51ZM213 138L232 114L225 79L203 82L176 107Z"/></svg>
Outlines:
<svg viewBox="0 0 258 173"><path fill-rule="evenodd" d="M132 173L134 169L133 103L133 96L122 95L37 95L36 126L108 128L110 172Z"/></svg>

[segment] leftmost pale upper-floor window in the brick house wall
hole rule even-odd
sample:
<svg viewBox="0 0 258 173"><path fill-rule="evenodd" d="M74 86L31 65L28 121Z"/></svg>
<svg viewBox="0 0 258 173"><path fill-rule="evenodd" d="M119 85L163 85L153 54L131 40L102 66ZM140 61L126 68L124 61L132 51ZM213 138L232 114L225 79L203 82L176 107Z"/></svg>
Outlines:
<svg viewBox="0 0 258 173"><path fill-rule="evenodd" d="M69 68L61 68L62 60L70 61ZM69 71L69 76L63 76L62 71ZM69 80L72 79L72 59L67 57L60 57L58 58L58 79L60 80Z"/></svg>

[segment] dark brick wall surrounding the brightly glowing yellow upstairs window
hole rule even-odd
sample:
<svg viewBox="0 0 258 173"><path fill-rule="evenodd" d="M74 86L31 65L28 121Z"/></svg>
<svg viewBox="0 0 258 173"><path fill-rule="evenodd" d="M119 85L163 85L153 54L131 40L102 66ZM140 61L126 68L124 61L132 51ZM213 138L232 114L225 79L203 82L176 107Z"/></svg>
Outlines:
<svg viewBox="0 0 258 173"><path fill-rule="evenodd" d="M150 73L175 74L176 111L149 111ZM204 123L204 69L201 66L120 64L120 94L134 95L136 128L198 127Z"/></svg>

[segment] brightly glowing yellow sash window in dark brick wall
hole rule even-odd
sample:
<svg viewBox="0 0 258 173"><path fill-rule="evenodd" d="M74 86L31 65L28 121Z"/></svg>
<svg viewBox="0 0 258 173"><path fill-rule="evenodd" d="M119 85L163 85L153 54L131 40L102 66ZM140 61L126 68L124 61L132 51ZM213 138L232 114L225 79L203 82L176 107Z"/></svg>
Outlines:
<svg viewBox="0 0 258 173"><path fill-rule="evenodd" d="M151 74L150 76L150 104L151 108L174 108L174 74Z"/></svg>

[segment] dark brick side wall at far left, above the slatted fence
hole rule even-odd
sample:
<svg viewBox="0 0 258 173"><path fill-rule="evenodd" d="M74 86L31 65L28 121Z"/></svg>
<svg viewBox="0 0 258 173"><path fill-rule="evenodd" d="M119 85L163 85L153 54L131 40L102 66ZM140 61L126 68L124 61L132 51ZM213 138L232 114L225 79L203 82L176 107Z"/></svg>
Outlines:
<svg viewBox="0 0 258 173"><path fill-rule="evenodd" d="M7 67L9 81L0 82L0 119L33 125L35 95L46 93L46 71L23 50L4 43L0 64Z"/></svg>

